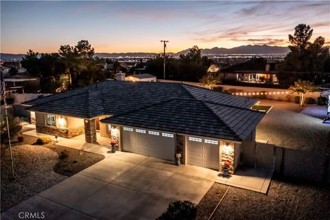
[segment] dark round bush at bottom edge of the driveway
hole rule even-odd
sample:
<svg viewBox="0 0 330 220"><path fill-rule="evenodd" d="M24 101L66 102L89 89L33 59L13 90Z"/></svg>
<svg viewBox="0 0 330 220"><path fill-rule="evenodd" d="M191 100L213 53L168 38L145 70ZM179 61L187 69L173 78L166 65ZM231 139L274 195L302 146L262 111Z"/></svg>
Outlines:
<svg viewBox="0 0 330 220"><path fill-rule="evenodd" d="M195 219L197 214L197 208L191 201L171 201L168 205L166 212L157 218L157 220L170 220L170 219L182 219L190 220Z"/></svg>

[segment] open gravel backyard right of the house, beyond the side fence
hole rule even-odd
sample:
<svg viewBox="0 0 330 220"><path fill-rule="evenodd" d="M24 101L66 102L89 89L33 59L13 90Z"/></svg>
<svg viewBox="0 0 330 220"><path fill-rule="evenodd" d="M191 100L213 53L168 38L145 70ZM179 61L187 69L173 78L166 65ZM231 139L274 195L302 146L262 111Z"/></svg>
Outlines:
<svg viewBox="0 0 330 220"><path fill-rule="evenodd" d="M273 109L256 127L256 139L268 140L270 144L285 148L330 153L330 124L300 113L306 107L299 107L294 102L261 100L261 104L272 105ZM318 111L322 109L315 107Z"/></svg>

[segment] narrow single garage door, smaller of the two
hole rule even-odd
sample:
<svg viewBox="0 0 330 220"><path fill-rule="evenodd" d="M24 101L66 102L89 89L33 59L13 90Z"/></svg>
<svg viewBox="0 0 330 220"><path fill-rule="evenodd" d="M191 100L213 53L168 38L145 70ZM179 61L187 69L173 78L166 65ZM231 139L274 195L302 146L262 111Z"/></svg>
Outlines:
<svg viewBox="0 0 330 220"><path fill-rule="evenodd" d="M219 142L188 137L188 164L219 169Z"/></svg>

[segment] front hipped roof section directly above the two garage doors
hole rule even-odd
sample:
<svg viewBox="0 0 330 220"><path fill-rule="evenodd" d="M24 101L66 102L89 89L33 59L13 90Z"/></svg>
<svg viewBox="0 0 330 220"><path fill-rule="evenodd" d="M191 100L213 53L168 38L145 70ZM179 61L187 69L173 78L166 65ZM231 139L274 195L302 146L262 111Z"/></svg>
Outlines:
<svg viewBox="0 0 330 220"><path fill-rule="evenodd" d="M244 140L265 113L194 99L173 99L101 122L224 140Z"/></svg>

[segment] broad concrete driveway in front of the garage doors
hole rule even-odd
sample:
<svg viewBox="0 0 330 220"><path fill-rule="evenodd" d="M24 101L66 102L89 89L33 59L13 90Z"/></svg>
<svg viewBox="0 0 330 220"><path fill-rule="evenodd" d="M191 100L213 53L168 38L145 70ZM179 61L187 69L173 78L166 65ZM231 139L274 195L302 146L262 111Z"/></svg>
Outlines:
<svg viewBox="0 0 330 220"><path fill-rule="evenodd" d="M218 172L117 152L1 214L19 219L155 219L173 199L199 203ZM22 215L22 214L21 214Z"/></svg>

